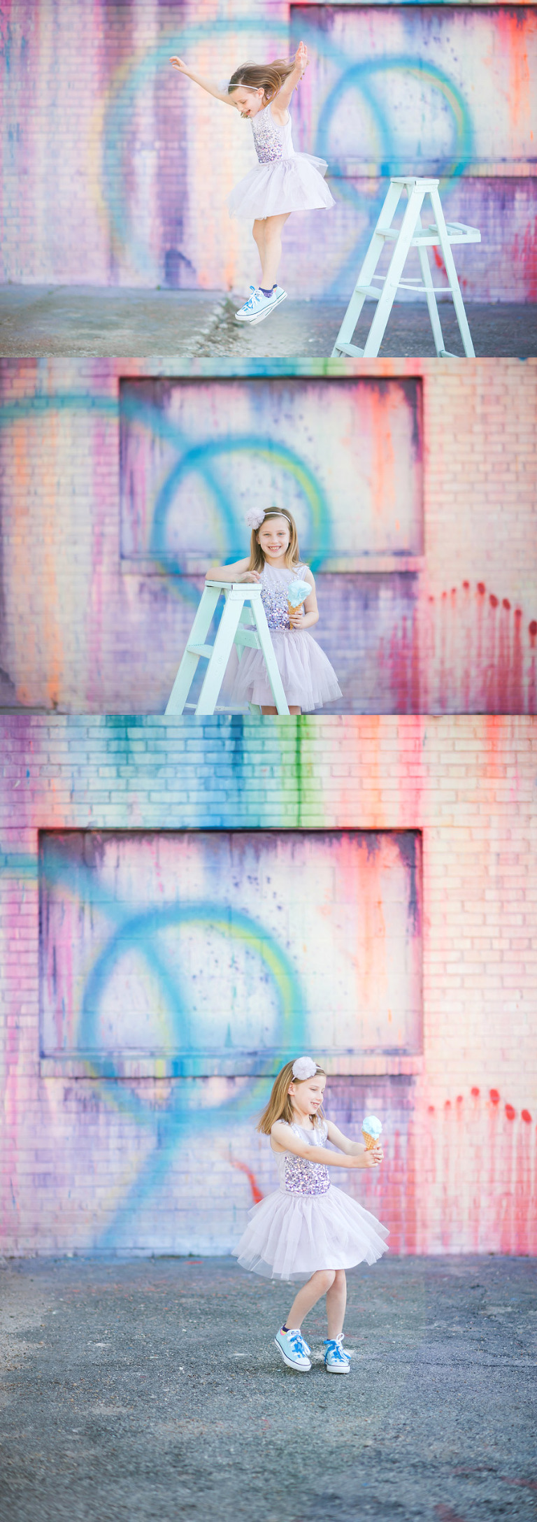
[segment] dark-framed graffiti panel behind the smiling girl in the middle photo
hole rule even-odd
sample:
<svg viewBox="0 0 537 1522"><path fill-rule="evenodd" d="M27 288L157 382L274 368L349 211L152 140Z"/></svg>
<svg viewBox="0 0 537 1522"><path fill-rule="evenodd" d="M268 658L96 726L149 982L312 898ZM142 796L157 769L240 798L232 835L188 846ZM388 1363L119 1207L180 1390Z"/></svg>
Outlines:
<svg viewBox="0 0 537 1522"><path fill-rule="evenodd" d="M253 498L294 513L315 571L421 554L415 380L125 380L120 408L125 557L180 572L239 559Z"/></svg>

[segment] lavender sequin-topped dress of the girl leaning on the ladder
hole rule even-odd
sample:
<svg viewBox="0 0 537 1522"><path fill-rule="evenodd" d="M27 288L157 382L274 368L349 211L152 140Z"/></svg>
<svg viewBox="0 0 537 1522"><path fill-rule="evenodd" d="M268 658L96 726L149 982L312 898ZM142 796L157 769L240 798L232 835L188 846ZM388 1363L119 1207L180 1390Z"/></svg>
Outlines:
<svg viewBox="0 0 537 1522"><path fill-rule="evenodd" d="M335 703L342 697L342 691L329 658L316 644L307 629L291 629L288 613L289 581L303 578L307 566L274 568L265 563L260 574L262 603L266 622L271 630L274 654L288 699L288 708L301 708L309 712L312 708L323 708L323 703ZM274 697L266 673L262 650L243 651L237 658L236 648L231 653L225 691L230 703L263 703L274 708Z"/></svg>

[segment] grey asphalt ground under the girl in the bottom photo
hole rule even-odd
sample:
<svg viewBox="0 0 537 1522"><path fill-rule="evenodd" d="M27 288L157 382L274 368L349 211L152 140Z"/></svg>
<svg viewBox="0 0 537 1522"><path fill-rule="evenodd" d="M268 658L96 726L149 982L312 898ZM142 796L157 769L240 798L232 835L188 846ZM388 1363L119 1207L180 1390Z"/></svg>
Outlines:
<svg viewBox="0 0 537 1522"><path fill-rule="evenodd" d="M348 1275L351 1373L233 1259L0 1271L2 1522L494 1522L537 1510L535 1262Z"/></svg>

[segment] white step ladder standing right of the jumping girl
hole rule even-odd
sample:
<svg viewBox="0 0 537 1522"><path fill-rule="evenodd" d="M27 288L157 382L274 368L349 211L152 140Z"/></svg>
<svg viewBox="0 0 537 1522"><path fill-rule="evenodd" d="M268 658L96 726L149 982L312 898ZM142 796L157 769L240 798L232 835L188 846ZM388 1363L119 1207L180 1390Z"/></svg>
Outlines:
<svg viewBox="0 0 537 1522"><path fill-rule="evenodd" d="M462 347L467 359L475 359L473 342L470 338L470 329L467 323L467 315L464 310L464 301L461 295L461 286L456 279L456 269L452 254L452 244L481 244L481 233L476 227L466 227L464 222L447 222L440 204L438 195L438 180L417 180L414 175L411 178L397 178L389 181L389 190L383 202L377 225L374 228L368 251L365 254L353 295L350 298L345 317L342 320L332 356L339 355L354 355L364 359L374 359L379 353L388 317L394 303L396 291L406 289L424 292L427 298L429 317L432 336L435 341L435 350L438 359L455 359L444 347L443 330L440 326L438 306L437 306L437 291L446 295L450 291L453 297L453 306L456 312L456 320L461 329ZM403 216L402 227L392 227L392 219L400 201L400 196L406 190L408 202ZM424 196L431 196L431 205L435 221L431 227L423 227L421 224L421 207ZM376 275L376 268L386 242L394 244L394 253L391 256L389 269L386 275ZM402 280L406 257L411 248L418 250L421 280ZM427 248L440 248L447 274L447 286L434 286L429 265ZM373 285L373 280L380 282L380 289ZM368 336L365 339L364 349L356 349L351 342L357 318L361 315L364 301L370 297L377 301L377 310L374 314Z"/></svg>

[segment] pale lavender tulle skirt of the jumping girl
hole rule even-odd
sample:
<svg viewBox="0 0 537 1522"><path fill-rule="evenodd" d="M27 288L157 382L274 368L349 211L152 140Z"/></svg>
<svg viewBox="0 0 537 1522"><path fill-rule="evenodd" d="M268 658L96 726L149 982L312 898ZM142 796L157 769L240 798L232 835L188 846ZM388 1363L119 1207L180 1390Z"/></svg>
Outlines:
<svg viewBox="0 0 537 1522"><path fill-rule="evenodd" d="M335 205L323 175L324 158L294 154L271 164L256 164L228 196L230 216L278 216L283 212L315 212Z"/></svg>

